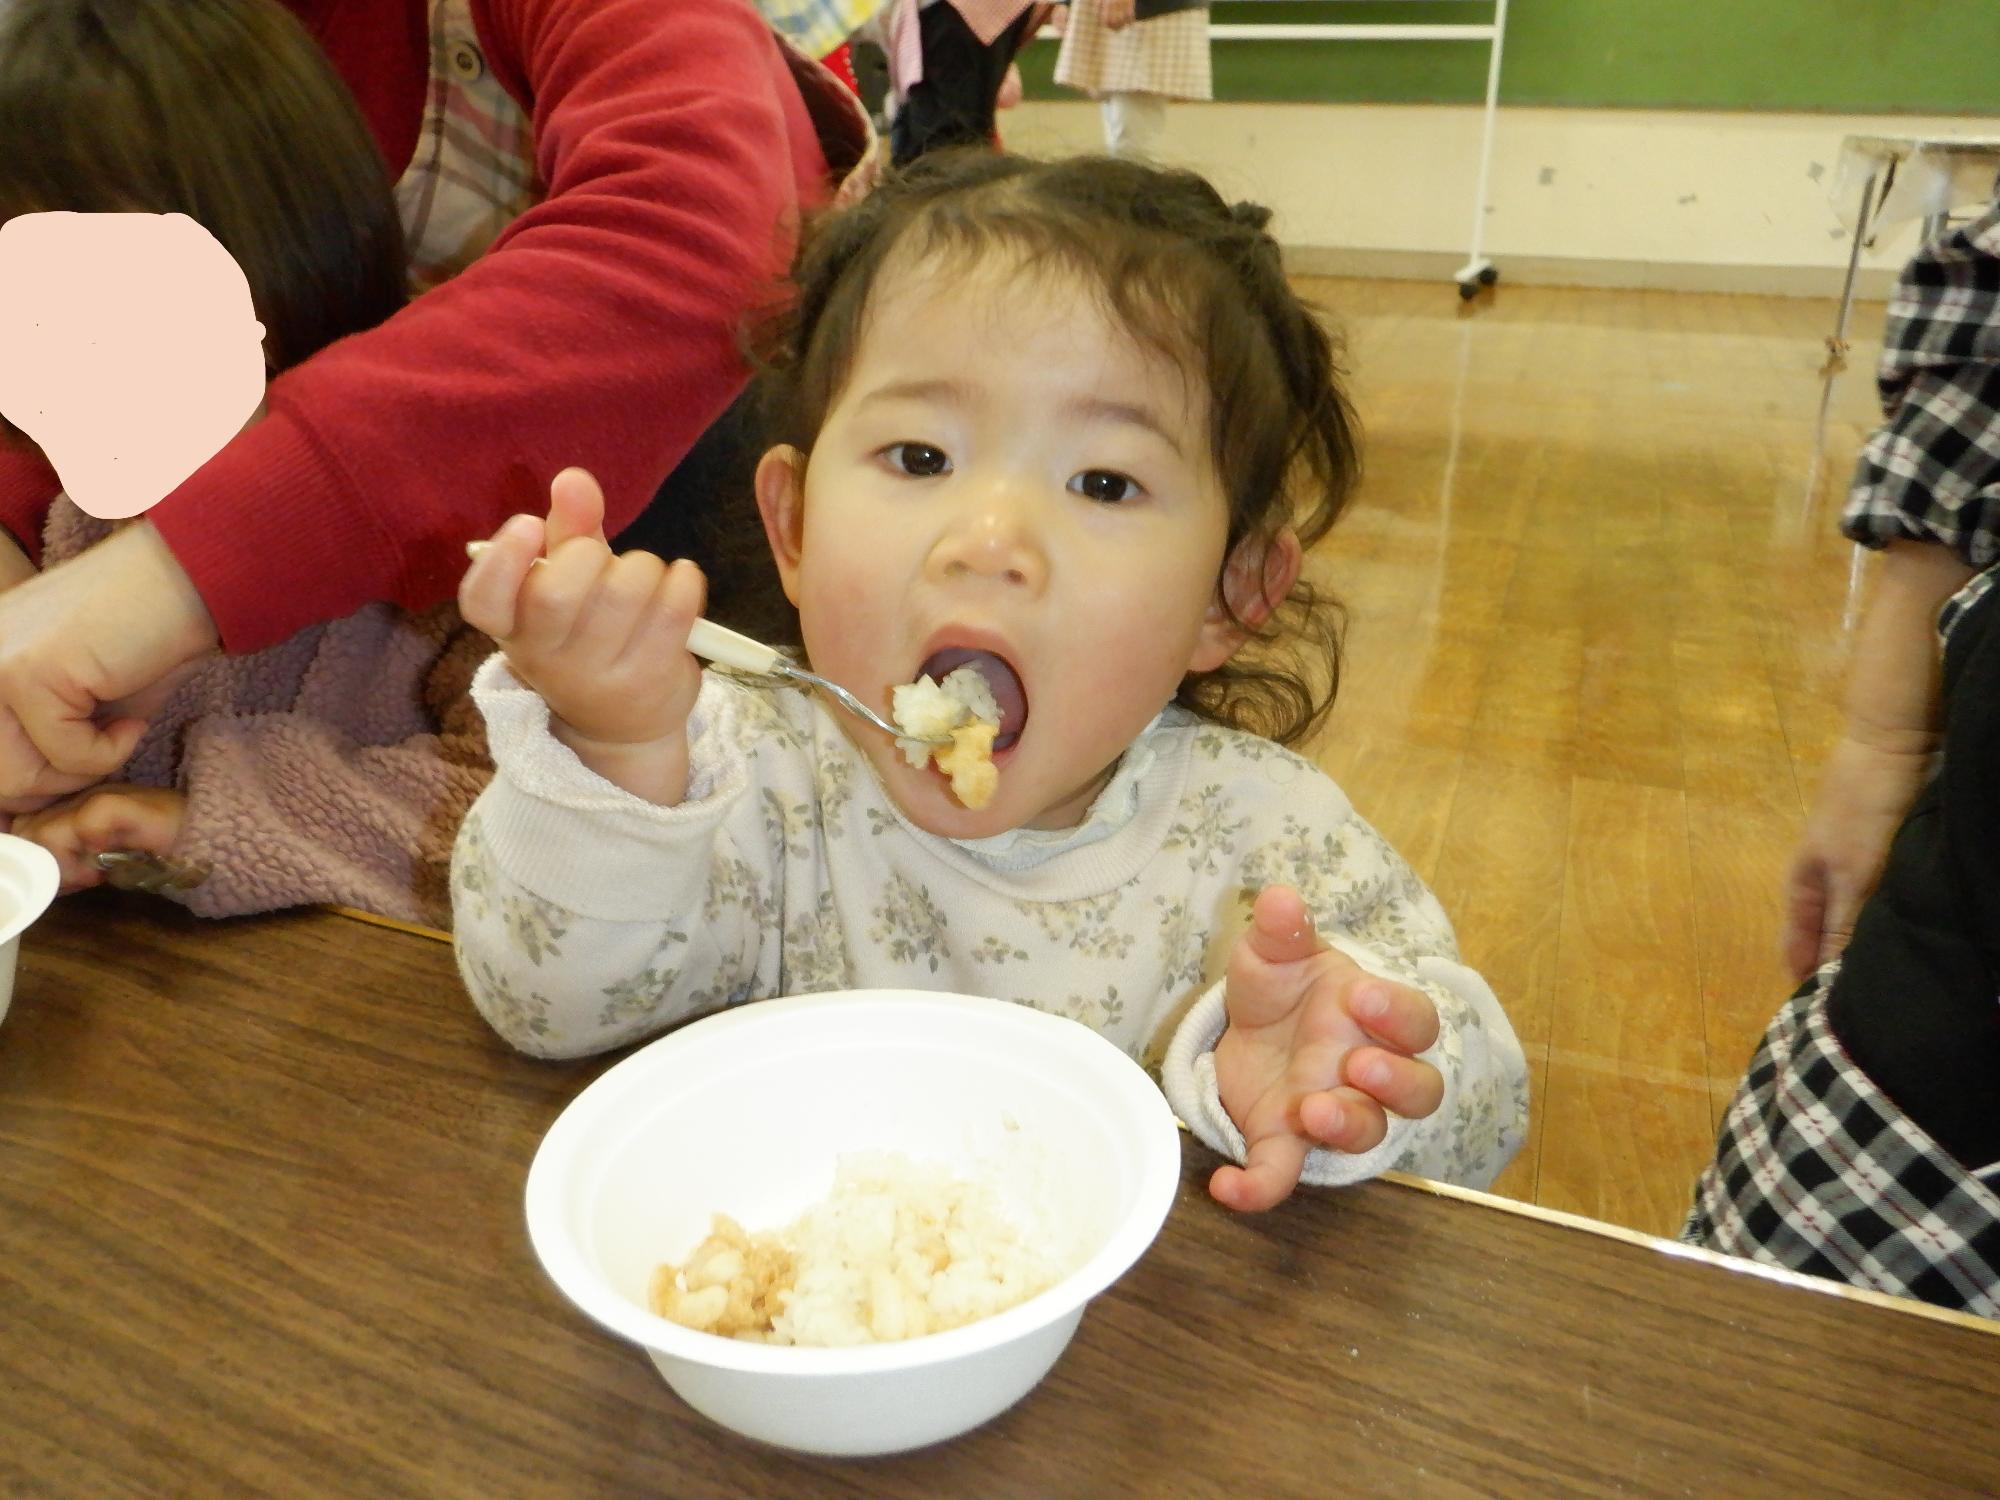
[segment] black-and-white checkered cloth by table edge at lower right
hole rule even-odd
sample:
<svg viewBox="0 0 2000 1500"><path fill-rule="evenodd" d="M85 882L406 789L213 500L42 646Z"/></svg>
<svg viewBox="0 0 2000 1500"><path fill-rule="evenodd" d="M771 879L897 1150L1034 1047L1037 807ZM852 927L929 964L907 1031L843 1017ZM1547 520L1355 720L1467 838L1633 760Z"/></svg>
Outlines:
<svg viewBox="0 0 2000 1500"><path fill-rule="evenodd" d="M1848 1058L1822 968L1764 1032L1680 1238L2000 1318L2000 1196Z"/></svg>

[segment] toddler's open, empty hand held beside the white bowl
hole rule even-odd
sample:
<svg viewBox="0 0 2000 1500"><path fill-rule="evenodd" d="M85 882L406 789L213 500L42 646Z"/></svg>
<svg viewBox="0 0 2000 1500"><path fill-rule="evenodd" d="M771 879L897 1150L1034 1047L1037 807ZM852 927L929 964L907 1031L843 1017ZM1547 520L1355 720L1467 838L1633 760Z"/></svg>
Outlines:
<svg viewBox="0 0 2000 1500"><path fill-rule="evenodd" d="M1208 1180L1228 1208L1274 1208L1314 1146L1372 1150L1388 1134L1388 1110L1422 1118L1444 1098L1442 1074L1414 1056L1438 1040L1436 1006L1320 942L1288 886L1256 898L1224 1004L1216 1084L1248 1146L1244 1166Z"/></svg>

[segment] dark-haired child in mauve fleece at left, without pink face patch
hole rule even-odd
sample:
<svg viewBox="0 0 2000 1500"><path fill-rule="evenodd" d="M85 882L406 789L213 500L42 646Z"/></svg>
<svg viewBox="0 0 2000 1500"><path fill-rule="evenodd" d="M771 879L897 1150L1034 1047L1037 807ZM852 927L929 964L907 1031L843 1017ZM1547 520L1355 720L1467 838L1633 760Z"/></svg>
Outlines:
<svg viewBox="0 0 2000 1500"><path fill-rule="evenodd" d="M406 300L368 128L266 0L16 0L0 12L0 140L38 142L0 154L0 222L202 224L250 282L272 374ZM58 496L42 566L112 530ZM26 586L34 568L0 550L0 586ZM170 860L154 884L202 916L344 902L442 926L452 836L492 774L466 696L490 650L450 604L374 604L252 656L216 654L154 702L118 706L150 720L118 784L4 812L56 854L66 890L98 884L96 856L126 850Z"/></svg>

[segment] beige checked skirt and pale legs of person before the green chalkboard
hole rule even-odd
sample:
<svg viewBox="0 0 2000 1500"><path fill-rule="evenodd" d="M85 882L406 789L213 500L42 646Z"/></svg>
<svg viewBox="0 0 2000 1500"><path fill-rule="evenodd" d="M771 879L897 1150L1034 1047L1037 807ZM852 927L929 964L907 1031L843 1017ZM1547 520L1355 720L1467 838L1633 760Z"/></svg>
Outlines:
<svg viewBox="0 0 2000 1500"><path fill-rule="evenodd" d="M1070 0L1056 82L1098 100L1104 150L1156 156L1170 98L1212 98L1206 0Z"/></svg>

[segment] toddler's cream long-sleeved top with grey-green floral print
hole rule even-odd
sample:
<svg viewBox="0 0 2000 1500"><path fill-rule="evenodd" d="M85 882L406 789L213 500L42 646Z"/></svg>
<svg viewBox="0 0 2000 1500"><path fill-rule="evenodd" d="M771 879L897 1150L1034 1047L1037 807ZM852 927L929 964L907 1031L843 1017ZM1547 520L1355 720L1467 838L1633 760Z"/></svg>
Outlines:
<svg viewBox="0 0 2000 1500"><path fill-rule="evenodd" d="M1424 990L1444 1102L1366 1154L1486 1186L1518 1150L1528 1072L1436 898L1316 766L1164 710L1076 828L950 840L888 800L832 710L708 672L672 808L588 770L502 656L472 686L498 768L452 860L458 966L516 1048L582 1056L782 994L928 988L1078 1020L1156 1068L1182 1120L1242 1160L1216 1092L1222 974L1250 902L1296 886L1320 934ZM1004 774L1004 772L1002 772Z"/></svg>

